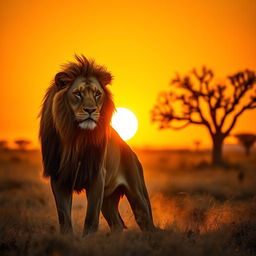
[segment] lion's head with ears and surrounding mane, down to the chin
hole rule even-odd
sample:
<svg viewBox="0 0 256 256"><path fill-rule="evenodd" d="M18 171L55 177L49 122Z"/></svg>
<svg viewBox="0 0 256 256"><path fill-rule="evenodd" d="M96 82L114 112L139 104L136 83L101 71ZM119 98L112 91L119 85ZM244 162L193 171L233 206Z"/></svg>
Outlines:
<svg viewBox="0 0 256 256"><path fill-rule="evenodd" d="M74 141L74 137L84 135L87 139L100 139L105 135L114 110L106 88L112 76L84 56L76 56L76 60L56 74L50 88L54 126L62 140Z"/></svg>

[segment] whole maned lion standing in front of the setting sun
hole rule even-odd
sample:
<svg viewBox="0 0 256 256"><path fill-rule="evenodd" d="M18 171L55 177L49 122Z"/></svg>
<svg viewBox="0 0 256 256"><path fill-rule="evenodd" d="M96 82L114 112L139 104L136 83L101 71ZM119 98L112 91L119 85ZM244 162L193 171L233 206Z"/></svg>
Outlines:
<svg viewBox="0 0 256 256"><path fill-rule="evenodd" d="M97 231L102 212L111 231L126 228L118 211L126 196L142 231L154 231L143 168L111 127L115 110L107 85L112 75L83 55L63 65L40 112L44 176L50 178L60 232L72 234L73 192L86 191L83 235Z"/></svg>

